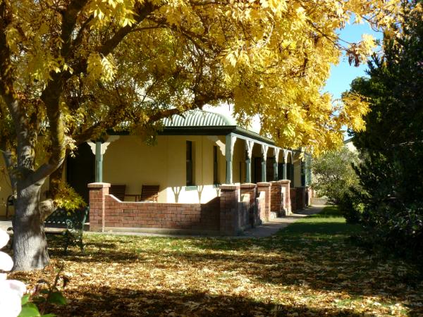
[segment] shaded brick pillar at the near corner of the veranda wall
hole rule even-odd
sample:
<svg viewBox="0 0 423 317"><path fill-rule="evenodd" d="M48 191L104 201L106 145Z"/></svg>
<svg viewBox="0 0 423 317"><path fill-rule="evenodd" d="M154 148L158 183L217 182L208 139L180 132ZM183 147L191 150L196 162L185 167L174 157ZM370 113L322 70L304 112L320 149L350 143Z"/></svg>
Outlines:
<svg viewBox="0 0 423 317"><path fill-rule="evenodd" d="M239 187L236 185L220 186L220 232L223 235L238 233Z"/></svg>

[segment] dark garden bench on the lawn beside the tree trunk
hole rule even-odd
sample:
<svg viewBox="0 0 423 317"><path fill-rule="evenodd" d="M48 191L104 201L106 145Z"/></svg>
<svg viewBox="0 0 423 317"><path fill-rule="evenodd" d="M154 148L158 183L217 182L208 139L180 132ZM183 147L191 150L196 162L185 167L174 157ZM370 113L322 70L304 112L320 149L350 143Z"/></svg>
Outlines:
<svg viewBox="0 0 423 317"><path fill-rule="evenodd" d="M63 236L65 253L69 245L78 245L83 252L82 232L89 210L89 207L77 211L56 209L44 220L44 232L46 235Z"/></svg>

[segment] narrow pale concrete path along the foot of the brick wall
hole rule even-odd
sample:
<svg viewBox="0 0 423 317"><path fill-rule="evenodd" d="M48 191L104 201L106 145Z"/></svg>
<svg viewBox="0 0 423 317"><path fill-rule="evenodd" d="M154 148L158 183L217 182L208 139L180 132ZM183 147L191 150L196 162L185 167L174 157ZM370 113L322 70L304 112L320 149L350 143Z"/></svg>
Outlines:
<svg viewBox="0 0 423 317"><path fill-rule="evenodd" d="M247 238L260 238L260 237L269 237L274 235L278 230L286 228L291 223L300 220L301 218L309 215L314 215L314 213L319 213L324 208L324 205L316 205L308 207L302 211L296 211L290 216L283 218L274 218L269 222L263 223L256 228L247 229L243 232L243 235L238 235L235 237L226 237L219 236L224 238L235 238L235 239L247 239ZM7 228L12 226L11 221L0 221L0 228L7 230ZM90 234L91 232L84 232L84 234ZM212 237L207 235L171 235L171 234L161 234L161 233L150 233L150 232L104 232L106 235L137 235L143 237Z"/></svg>

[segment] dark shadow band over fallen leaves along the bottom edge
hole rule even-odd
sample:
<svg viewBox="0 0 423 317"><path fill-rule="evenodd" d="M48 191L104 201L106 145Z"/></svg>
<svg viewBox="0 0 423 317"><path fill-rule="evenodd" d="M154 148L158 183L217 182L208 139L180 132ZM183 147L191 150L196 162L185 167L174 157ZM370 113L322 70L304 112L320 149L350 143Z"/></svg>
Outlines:
<svg viewBox="0 0 423 317"><path fill-rule="evenodd" d="M195 290L144 291L94 287L74 290L78 298L52 313L58 316L362 316L350 309L276 305L246 297L211 295Z"/></svg>

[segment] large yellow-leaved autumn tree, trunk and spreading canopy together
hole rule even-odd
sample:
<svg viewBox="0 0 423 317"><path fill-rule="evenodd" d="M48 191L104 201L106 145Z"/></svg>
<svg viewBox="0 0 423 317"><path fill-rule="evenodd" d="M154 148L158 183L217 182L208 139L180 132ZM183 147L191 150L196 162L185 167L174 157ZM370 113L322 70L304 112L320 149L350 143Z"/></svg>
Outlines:
<svg viewBox="0 0 423 317"><path fill-rule="evenodd" d="M353 14L386 27L399 2L0 0L0 149L17 192L15 269L48 263L40 187L68 151L106 129L149 133L173 113L227 101L240 124L259 114L282 147L336 146L367 107L356 97L334 106L321 89L341 51L360 63L373 46L369 37L344 46L336 32Z"/></svg>

